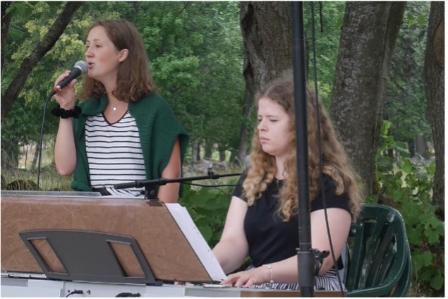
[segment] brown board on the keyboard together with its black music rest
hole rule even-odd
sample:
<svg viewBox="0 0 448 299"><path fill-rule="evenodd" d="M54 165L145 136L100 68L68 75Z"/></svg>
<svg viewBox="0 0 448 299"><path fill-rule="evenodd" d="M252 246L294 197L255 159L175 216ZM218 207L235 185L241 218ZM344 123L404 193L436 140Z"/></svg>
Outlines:
<svg viewBox="0 0 448 299"><path fill-rule="evenodd" d="M213 281L162 202L91 193L2 191L1 270L68 281Z"/></svg>

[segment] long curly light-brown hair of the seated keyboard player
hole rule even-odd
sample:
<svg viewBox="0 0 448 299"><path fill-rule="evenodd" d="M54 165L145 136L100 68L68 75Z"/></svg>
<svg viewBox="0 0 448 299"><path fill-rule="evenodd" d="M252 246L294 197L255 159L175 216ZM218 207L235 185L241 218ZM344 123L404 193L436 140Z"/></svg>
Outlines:
<svg viewBox="0 0 448 299"><path fill-rule="evenodd" d="M298 185L296 171L296 121L294 106L293 78L289 75L272 81L264 90L256 94L255 106L261 98L268 98L284 108L291 118L289 124L289 153L287 154L284 171L288 174L279 191L278 213L283 214L284 221L289 221L291 216L298 214ZM344 148L339 142L332 122L319 102L320 140L317 140L317 117L315 94L309 87L306 88L306 105L308 121L308 174L310 201L313 201L319 193L320 163L318 142L322 151L322 172L330 176L337 184L336 194L347 193L351 203L351 215L356 220L361 208L363 195L358 185L360 180L353 170ZM250 168L243 183L244 196L248 205L253 205L267 186L274 180L277 171L275 157L263 152L258 137L258 129L255 128L252 140L252 152L250 153Z"/></svg>

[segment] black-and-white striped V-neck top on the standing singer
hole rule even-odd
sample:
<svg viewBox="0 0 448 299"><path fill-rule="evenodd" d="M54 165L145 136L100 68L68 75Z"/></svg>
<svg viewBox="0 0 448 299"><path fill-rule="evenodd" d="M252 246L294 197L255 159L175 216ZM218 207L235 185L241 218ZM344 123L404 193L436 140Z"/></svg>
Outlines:
<svg viewBox="0 0 448 299"><path fill-rule="evenodd" d="M116 123L109 123L103 114L88 116L85 147L92 188L145 180L138 128L129 111ZM130 191L140 193L140 189Z"/></svg>

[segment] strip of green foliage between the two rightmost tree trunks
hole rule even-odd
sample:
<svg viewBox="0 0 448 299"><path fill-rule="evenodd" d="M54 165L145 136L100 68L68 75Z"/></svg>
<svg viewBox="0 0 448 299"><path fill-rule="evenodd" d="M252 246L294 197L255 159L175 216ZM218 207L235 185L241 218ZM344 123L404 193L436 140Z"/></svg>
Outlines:
<svg viewBox="0 0 448 299"><path fill-rule="evenodd" d="M430 2L408 2L387 83L384 118L393 123L389 133L396 140L407 142L411 154L415 152L417 135L430 136L421 75L429 8Z"/></svg>

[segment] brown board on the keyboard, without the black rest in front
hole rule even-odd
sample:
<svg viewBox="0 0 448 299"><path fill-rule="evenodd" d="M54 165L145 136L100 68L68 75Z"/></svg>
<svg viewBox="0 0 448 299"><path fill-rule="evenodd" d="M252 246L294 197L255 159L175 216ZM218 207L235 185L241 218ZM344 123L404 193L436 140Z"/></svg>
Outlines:
<svg viewBox="0 0 448 299"><path fill-rule="evenodd" d="M105 197L1 197L2 271L42 273L18 233L44 229L73 229L131 236L162 281L210 281L210 276L188 244L176 221L162 204L143 199ZM43 251L50 250L42 246ZM86 248L86 254L87 254ZM140 276L133 255L120 254L129 275ZM126 260L128 259L128 263ZM47 255L50 269L61 268Z"/></svg>

